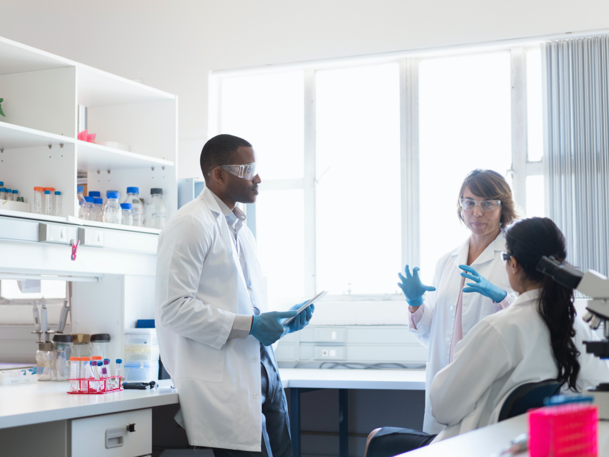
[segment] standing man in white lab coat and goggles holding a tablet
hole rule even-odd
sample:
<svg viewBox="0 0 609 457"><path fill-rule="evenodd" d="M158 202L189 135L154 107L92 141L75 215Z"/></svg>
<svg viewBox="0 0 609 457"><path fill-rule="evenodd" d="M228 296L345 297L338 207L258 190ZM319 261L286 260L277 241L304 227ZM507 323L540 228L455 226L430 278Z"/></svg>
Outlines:
<svg viewBox="0 0 609 457"><path fill-rule="evenodd" d="M301 330L309 306L266 312L252 232L237 202L253 203L261 182L252 145L211 138L201 153L205 189L161 232L156 327L161 359L180 395L176 420L191 445L216 457L291 457L286 397L271 344Z"/></svg>

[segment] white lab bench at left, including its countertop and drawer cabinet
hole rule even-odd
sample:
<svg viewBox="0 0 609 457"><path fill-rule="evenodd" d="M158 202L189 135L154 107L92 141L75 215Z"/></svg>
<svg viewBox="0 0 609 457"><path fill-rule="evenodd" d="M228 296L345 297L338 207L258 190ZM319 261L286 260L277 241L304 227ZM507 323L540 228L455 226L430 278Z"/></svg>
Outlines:
<svg viewBox="0 0 609 457"><path fill-rule="evenodd" d="M67 381L0 386L2 455L150 455L153 406L178 403L170 385L100 395L68 394ZM127 431L128 423L135 431Z"/></svg>

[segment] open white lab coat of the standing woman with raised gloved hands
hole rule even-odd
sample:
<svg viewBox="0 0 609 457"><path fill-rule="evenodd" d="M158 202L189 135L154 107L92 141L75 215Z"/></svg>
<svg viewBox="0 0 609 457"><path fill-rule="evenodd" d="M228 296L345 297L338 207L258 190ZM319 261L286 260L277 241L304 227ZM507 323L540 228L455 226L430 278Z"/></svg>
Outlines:
<svg viewBox="0 0 609 457"><path fill-rule="evenodd" d="M426 293L423 315L417 328L414 328L409 320L409 330L414 333L421 344L429 348L423 431L430 434L440 433L444 428L444 425L438 423L431 414L429 389L435 374L448 365L457 299L460 292L459 286L462 279L459 265L467 264L469 249L470 238L466 239L462 246L446 253L438 260L433 282L435 291ZM505 250L505 237L503 233L499 233L495 241L488 245L471 266L491 283L507 291L509 295L506 297L507 300L514 301L516 296L510 289L501 260L502 250ZM501 310L501 305L493 304L493 300L477 292L464 293L462 304L463 338L484 317Z"/></svg>

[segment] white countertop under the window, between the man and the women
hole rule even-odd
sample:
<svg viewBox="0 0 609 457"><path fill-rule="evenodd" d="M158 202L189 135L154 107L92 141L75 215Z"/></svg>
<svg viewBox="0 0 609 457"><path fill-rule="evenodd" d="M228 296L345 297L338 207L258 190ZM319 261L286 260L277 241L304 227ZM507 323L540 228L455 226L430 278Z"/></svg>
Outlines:
<svg viewBox="0 0 609 457"><path fill-rule="evenodd" d="M283 388L425 390L425 370L280 368Z"/></svg>

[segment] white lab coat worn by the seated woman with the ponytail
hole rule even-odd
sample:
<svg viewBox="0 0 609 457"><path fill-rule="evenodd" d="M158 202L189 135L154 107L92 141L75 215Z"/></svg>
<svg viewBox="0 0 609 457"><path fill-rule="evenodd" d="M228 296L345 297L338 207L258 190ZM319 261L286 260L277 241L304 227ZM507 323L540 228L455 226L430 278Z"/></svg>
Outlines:
<svg viewBox="0 0 609 457"><path fill-rule="evenodd" d="M448 424L434 441L497 422L515 388L557 377L538 297L539 289L525 292L505 310L486 317L457 344L454 361L435 375L431 386L432 413ZM574 328L581 367L578 389L608 382L609 364L586 353L583 344L598 337L580 317Z"/></svg>

